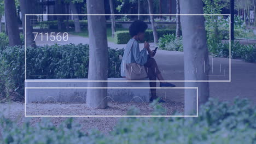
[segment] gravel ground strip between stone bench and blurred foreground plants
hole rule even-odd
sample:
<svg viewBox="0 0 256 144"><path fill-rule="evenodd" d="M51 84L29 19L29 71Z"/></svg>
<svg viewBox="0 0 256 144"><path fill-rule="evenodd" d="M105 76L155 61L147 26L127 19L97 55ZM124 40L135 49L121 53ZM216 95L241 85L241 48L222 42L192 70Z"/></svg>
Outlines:
<svg viewBox="0 0 256 144"><path fill-rule="evenodd" d="M169 101L162 106L166 110L168 115L171 115L174 111L183 113L184 104L177 103L175 101ZM27 115L126 115L127 110L130 107L136 107L139 109L139 115L150 115L154 108L148 104L141 103L108 103L107 109L89 109L86 104L27 104ZM42 117L25 118L24 117L24 104L23 103L5 103L0 104L1 111L4 112L4 116L18 122L24 123L26 119L30 119L31 124L36 124L42 120ZM121 107L121 109L120 109ZM54 124L59 124L64 121L65 117L51 117L51 121ZM75 117L74 121L82 125L84 133L90 133L90 129L96 128L102 131L104 134L108 134L117 123L119 117Z"/></svg>

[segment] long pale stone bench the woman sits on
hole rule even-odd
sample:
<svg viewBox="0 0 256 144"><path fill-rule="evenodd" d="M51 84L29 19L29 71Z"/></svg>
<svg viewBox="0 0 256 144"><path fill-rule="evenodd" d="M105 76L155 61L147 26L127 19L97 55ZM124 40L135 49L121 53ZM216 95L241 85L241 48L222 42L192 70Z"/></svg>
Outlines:
<svg viewBox="0 0 256 144"><path fill-rule="evenodd" d="M88 79L37 79L26 80L26 103L86 103ZM108 80L122 81L125 78L109 78ZM149 79L145 79L149 80ZM79 82L81 81L81 82ZM85 87L85 88L83 88ZM111 88L118 87L118 88ZM122 87L122 88L119 88ZM132 88L134 87L134 88ZM144 87L144 88L138 88ZM147 87L147 88L145 88ZM108 100L121 103L134 101L149 102L151 97L149 82L109 82Z"/></svg>

